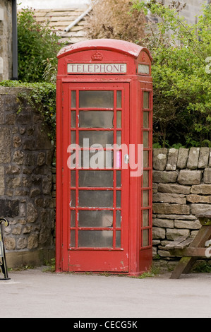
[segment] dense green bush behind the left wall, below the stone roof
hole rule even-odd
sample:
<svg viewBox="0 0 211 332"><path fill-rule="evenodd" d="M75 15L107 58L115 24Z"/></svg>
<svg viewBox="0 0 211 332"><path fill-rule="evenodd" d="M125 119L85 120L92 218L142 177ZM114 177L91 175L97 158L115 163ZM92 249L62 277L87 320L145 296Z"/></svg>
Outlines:
<svg viewBox="0 0 211 332"><path fill-rule="evenodd" d="M23 8L18 13L18 78L24 82L42 82L48 59L56 68L56 54L61 49L61 42L49 22L37 23L35 13L30 8Z"/></svg>

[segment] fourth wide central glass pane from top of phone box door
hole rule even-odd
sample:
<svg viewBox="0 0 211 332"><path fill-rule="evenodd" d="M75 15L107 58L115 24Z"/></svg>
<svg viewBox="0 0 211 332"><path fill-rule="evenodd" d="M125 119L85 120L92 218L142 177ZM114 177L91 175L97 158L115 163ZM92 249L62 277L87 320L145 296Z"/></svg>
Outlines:
<svg viewBox="0 0 211 332"><path fill-rule="evenodd" d="M83 150L81 153L81 167L83 168L112 168L114 165L114 153L110 150Z"/></svg>

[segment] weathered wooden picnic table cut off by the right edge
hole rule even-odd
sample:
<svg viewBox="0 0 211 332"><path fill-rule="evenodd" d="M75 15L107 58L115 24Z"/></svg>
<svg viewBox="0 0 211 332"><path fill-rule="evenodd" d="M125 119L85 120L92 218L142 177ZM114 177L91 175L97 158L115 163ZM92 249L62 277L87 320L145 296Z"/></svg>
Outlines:
<svg viewBox="0 0 211 332"><path fill-rule="evenodd" d="M198 215L202 225L195 238L179 237L174 242L167 244L166 248L173 256L181 256L179 263L171 273L171 279L179 279L182 273L188 273L198 258L209 258L207 252L211 245L211 212ZM211 253L211 248L210 248Z"/></svg>

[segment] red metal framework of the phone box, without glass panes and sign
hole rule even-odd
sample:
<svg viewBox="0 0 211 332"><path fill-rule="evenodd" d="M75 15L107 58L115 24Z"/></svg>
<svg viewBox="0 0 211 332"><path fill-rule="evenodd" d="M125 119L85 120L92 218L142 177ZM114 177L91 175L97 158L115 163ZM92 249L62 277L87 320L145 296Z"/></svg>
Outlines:
<svg viewBox="0 0 211 332"><path fill-rule="evenodd" d="M98 53L97 53L98 52ZM94 54L94 55L93 55ZM96 55L97 54L97 55ZM97 59L101 54L101 61L106 64L126 64L126 73L120 75L114 73L99 74L68 74L67 64L99 64ZM96 40L78 43L62 49L58 55L58 76L56 92L56 271L109 271L111 273L128 273L138 275L150 268L152 263L152 78L150 75L138 75L138 64L151 64L150 53L147 49L118 40ZM94 59L94 60L93 60ZM71 200L71 170L68 170L67 148L71 143L71 90L76 91L76 143L78 143L79 131L114 131L116 139L116 90L122 91L122 143L143 144L143 133L149 132L149 141L144 151L148 151L147 167L148 186L143 188L143 176L130 177L130 169L123 169L122 187L120 191L122 211L123 234L121 248L87 248L77 247L78 230L94 230L90 227L78 227L78 211L87 210L82 207L69 207ZM78 91L79 90L114 90L114 129L88 129L78 128ZM149 126L143 128L143 92L150 93L150 105L144 109L149 113ZM88 111L92 109L85 109ZM98 109L97 109L98 110ZM100 110L100 109L99 109ZM101 109L102 110L102 109ZM119 129L118 129L119 130ZM119 131L121 131L119 130ZM137 156L136 156L137 158ZM99 169L100 171L100 169ZM116 170L114 172L114 188L97 187L97 190L109 190L115 193ZM95 190L93 188L79 188L78 170L76 170L76 186L80 190ZM119 189L118 189L119 190ZM143 206L142 193L148 191L148 206ZM113 208L91 208L91 211L115 211L116 198L114 194ZM70 225L70 211L76 211L76 225ZM143 225L143 211L148 211L148 224ZM107 228L98 230L107 232ZM109 230L113 231L113 247L116 235L116 213L114 213L114 225ZM120 230L120 228L117 228ZM76 232L76 247L70 247L71 231ZM143 232L147 232L143 244ZM145 234L144 233L144 234Z"/></svg>

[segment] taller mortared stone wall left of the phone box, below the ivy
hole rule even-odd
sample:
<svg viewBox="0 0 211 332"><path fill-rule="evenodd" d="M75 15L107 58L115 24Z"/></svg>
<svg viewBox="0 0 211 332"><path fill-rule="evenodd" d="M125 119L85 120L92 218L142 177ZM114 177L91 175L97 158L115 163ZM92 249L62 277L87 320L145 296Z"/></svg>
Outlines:
<svg viewBox="0 0 211 332"><path fill-rule="evenodd" d="M18 92L0 88L0 214L10 223L10 267L36 265L54 251L53 148L40 113L20 105Z"/></svg>

